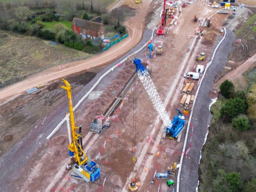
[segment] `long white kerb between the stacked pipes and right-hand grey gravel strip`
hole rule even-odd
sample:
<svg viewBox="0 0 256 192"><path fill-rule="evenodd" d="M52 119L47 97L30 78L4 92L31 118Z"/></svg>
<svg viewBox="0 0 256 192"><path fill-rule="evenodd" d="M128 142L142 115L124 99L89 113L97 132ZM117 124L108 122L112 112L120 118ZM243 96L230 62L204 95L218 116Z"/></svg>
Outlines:
<svg viewBox="0 0 256 192"><path fill-rule="evenodd" d="M224 30L225 30L225 35L223 36L223 38L221 39L221 41L218 43L217 47L215 48L213 56L211 57L211 61L206 65L203 77L201 78L201 81L200 81L200 83L198 85L197 93L195 95L195 98L197 98L198 92L199 92L200 87L201 87L201 83L202 83L202 81L204 79L204 76L205 76L207 70L208 70L208 67L210 67L210 65L211 65L211 63L213 61L213 58L215 56L216 51L218 50L218 47L220 46L220 44L223 42L223 40L226 37L227 33L226 33L226 28L225 27L224 27ZM181 158L180 158L180 168L179 168L179 172L178 172L178 176L177 176L177 189L176 189L176 192L179 192L179 188L180 188L180 172L181 172L181 167L182 167L182 162L183 162L183 156L184 156L186 145L187 145L187 136L188 136L188 132L189 132L189 128L190 128L190 122L191 122L191 118L192 118L192 115L193 115L195 103L196 103L196 99L195 99L195 102L193 103L191 114L190 114L190 118L189 118L188 125L187 125L186 137L185 137L185 141L184 141L184 145L183 145L182 155L181 155Z"/></svg>

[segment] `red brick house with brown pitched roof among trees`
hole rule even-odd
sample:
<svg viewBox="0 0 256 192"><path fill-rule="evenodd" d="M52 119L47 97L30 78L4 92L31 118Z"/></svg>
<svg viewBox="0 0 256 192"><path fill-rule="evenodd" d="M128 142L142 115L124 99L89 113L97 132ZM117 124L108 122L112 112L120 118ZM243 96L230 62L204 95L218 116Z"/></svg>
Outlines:
<svg viewBox="0 0 256 192"><path fill-rule="evenodd" d="M86 39L105 38L105 27L100 16L90 21L74 18L72 21L72 30Z"/></svg>

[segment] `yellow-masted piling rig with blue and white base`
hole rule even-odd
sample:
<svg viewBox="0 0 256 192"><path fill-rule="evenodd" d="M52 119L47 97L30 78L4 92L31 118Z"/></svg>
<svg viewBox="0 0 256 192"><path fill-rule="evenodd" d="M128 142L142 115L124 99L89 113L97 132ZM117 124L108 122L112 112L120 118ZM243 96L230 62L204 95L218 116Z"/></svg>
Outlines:
<svg viewBox="0 0 256 192"><path fill-rule="evenodd" d="M62 82L66 85L61 86L61 88L67 91L72 137L72 141L69 141L69 156L71 156L71 163L67 166L67 168L72 168L72 177L86 182L94 182L100 177L100 168L95 162L90 161L83 151L81 133L82 126L75 126L71 94L72 87L65 78L62 79ZM76 133L77 129L79 129L78 133Z"/></svg>

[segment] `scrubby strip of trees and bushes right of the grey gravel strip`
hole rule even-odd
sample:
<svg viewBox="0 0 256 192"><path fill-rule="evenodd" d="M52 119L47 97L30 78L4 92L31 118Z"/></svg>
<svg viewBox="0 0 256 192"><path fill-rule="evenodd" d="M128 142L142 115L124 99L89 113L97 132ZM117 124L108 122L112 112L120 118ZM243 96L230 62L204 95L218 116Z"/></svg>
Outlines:
<svg viewBox="0 0 256 192"><path fill-rule="evenodd" d="M211 106L214 117L199 165L199 192L256 191L254 71L246 73L246 92L236 91L230 99L220 97Z"/></svg>

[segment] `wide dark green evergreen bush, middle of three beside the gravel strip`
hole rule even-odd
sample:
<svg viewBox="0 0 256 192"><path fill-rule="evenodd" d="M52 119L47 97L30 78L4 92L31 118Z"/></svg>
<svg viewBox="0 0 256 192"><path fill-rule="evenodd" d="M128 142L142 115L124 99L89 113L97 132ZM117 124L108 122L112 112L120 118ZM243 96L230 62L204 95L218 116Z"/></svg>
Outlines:
<svg viewBox="0 0 256 192"><path fill-rule="evenodd" d="M246 102L240 98L228 100L220 109L223 121L231 122L232 118L246 113Z"/></svg>

